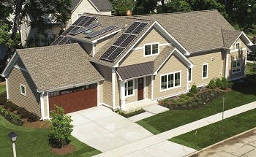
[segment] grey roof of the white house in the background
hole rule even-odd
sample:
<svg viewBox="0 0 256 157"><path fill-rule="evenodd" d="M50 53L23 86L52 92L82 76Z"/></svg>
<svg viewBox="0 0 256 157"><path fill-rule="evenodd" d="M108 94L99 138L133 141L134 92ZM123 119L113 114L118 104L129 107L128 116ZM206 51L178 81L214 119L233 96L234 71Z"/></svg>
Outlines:
<svg viewBox="0 0 256 157"><path fill-rule="evenodd" d="M112 5L108 0L88 0L98 12L106 12L112 10Z"/></svg>

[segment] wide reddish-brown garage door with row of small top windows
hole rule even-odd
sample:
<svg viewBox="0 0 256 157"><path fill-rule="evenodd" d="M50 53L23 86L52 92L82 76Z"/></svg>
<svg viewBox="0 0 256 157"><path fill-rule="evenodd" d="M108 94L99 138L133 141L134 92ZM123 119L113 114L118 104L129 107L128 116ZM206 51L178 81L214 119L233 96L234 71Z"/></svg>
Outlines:
<svg viewBox="0 0 256 157"><path fill-rule="evenodd" d="M62 107L66 113L96 107L97 84L51 92L49 93L50 111L55 110L55 105Z"/></svg>

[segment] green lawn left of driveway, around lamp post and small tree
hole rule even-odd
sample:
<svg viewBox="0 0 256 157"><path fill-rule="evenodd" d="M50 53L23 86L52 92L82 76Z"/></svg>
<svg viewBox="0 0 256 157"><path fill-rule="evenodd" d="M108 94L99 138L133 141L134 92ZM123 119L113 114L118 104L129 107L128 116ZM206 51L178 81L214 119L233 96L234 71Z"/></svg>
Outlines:
<svg viewBox="0 0 256 157"><path fill-rule="evenodd" d="M16 141L17 156L56 156L51 153L48 145L49 129L27 129L22 126L15 126L0 116L1 157L12 156L12 142L7 137L10 131L15 131L18 134ZM75 146L75 152L66 156L94 156L100 153L99 150L79 142L74 137L71 139L71 144Z"/></svg>

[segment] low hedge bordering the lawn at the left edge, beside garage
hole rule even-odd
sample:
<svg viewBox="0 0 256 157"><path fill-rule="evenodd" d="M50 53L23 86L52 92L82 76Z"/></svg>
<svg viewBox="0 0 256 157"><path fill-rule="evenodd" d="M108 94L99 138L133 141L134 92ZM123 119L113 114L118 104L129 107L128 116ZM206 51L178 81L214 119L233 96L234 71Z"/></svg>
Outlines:
<svg viewBox="0 0 256 157"><path fill-rule="evenodd" d="M16 115L13 112L5 110L3 107L0 107L0 115L10 121L10 123L14 123L15 125L22 126L23 124L23 120L20 118L20 116Z"/></svg>

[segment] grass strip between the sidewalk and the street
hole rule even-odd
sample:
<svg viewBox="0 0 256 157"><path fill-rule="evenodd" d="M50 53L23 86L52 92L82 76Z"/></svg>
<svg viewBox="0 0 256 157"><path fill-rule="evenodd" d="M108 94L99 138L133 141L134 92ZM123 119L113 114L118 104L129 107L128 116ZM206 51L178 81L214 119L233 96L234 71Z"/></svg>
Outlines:
<svg viewBox="0 0 256 157"><path fill-rule="evenodd" d="M200 150L209 145L220 142L236 134L253 129L256 126L256 109L235 115L224 120L224 132L222 133L222 122L213 123L196 131L190 131L186 134L181 134L178 137L169 139L181 145L186 145L189 148Z"/></svg>

